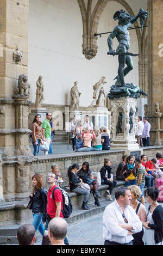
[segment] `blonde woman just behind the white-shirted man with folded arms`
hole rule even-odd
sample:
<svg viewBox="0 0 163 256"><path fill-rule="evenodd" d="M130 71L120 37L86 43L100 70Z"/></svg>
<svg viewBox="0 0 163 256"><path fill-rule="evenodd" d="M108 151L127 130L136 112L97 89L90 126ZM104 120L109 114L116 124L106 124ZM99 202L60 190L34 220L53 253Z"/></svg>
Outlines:
<svg viewBox="0 0 163 256"><path fill-rule="evenodd" d="M128 188L131 192L130 206L135 210L136 214L139 216L141 222L143 223L147 219L147 214L146 214L145 206L137 200L141 196L140 187L137 185L131 185ZM134 237L133 245L143 245L144 243L142 241L142 236L143 236L143 228L141 232L135 233L133 235Z"/></svg>

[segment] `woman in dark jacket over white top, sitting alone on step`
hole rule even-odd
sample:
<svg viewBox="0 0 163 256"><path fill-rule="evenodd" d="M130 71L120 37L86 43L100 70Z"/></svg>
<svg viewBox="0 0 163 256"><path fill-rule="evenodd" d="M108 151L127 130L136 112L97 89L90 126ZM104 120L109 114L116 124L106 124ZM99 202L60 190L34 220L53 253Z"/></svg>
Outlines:
<svg viewBox="0 0 163 256"><path fill-rule="evenodd" d="M109 185L109 190L106 190L107 197L110 201L112 189L116 186L117 182L111 179L111 162L109 159L104 159L104 166L100 170L101 173L101 184Z"/></svg>

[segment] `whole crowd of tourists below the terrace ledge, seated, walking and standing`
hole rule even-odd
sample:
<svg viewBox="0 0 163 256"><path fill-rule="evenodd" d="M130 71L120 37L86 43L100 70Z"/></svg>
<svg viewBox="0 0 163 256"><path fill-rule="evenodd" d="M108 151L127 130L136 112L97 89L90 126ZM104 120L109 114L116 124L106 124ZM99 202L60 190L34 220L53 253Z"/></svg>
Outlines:
<svg viewBox="0 0 163 256"><path fill-rule="evenodd" d="M116 179L124 180L125 187L116 190L115 201L104 210L105 245L163 245L163 209L158 203L163 201L162 167L163 157L160 153L156 153L155 158L148 161L146 155L136 159L134 155L122 157L122 162L116 170ZM106 196L112 201L111 194L117 181L112 178L111 169L111 161L104 159L104 164L97 173L101 176L101 184L108 185ZM78 163L74 163L68 168L67 176L70 191L84 196L81 209L90 209L87 202L91 191L95 205L101 206L101 184L97 181L97 176L93 176L89 162L83 162L82 168ZM45 187L42 175L33 175L33 192L29 196L33 221L32 224L22 225L17 230L20 245L33 245L37 230L43 237L42 245L68 245L67 223L63 219L66 218L66 207L69 207L70 214L72 213L72 205L66 188L61 184L59 166L55 163L47 175ZM145 197L149 203L148 212L145 208Z"/></svg>

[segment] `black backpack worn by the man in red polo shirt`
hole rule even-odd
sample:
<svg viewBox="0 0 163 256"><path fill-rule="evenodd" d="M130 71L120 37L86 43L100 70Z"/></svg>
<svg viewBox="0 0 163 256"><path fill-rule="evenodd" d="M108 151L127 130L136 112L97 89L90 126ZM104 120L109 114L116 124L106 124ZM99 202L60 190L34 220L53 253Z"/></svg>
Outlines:
<svg viewBox="0 0 163 256"><path fill-rule="evenodd" d="M55 190L60 190L62 193L62 205L63 205L63 210L61 210L62 215L64 216L64 218L68 218L70 217L70 215L72 214L72 203L71 203L71 199L68 193L66 193L66 196L68 197L68 205L65 203L65 194L64 194L64 190L61 190L59 187L55 187L54 190L52 191L52 198L55 200L54 198L54 192Z"/></svg>

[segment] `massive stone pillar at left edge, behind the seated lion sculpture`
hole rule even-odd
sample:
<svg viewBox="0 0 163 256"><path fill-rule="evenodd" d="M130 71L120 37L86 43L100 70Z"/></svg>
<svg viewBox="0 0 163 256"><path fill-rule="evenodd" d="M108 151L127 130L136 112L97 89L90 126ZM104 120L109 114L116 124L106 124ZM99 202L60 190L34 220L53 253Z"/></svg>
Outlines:
<svg viewBox="0 0 163 256"><path fill-rule="evenodd" d="M21 166L21 177L28 182L26 160L33 157L28 140L30 102L28 97L12 97L18 77L28 75L28 9L29 0L0 1L0 201L17 199L17 192L21 199L26 197L16 181L16 169Z"/></svg>

